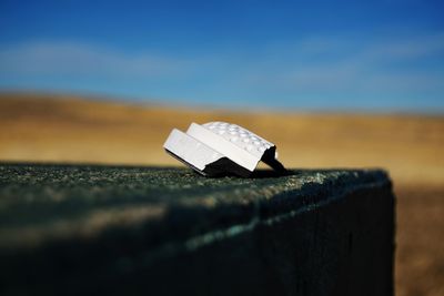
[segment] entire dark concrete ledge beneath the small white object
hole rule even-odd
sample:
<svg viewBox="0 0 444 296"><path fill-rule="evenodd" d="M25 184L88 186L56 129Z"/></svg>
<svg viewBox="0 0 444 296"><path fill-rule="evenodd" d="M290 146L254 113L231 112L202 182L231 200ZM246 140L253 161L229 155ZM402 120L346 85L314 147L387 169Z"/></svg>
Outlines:
<svg viewBox="0 0 444 296"><path fill-rule="evenodd" d="M393 295L382 171L0 166L1 295Z"/></svg>

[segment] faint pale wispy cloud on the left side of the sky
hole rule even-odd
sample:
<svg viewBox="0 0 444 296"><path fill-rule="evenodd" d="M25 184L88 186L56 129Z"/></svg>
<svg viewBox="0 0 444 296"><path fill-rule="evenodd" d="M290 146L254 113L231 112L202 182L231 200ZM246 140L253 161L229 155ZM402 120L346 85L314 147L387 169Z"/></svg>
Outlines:
<svg viewBox="0 0 444 296"><path fill-rule="evenodd" d="M0 72L4 74L150 78L181 74L189 64L174 57L124 54L72 42L37 42L0 49Z"/></svg>

